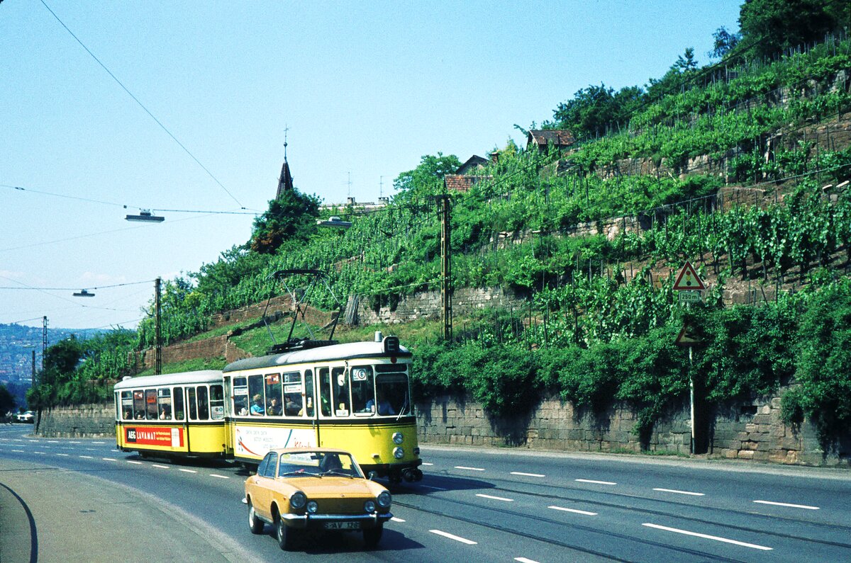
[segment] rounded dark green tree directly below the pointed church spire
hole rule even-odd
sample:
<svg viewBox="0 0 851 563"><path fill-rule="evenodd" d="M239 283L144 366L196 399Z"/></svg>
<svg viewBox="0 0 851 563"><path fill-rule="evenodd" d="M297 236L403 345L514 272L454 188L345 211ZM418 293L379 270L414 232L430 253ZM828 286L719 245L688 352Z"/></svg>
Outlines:
<svg viewBox="0 0 851 563"><path fill-rule="evenodd" d="M283 242L305 241L316 232L319 198L298 190L284 191L269 202L269 209L254 219L248 247L256 253L272 254Z"/></svg>

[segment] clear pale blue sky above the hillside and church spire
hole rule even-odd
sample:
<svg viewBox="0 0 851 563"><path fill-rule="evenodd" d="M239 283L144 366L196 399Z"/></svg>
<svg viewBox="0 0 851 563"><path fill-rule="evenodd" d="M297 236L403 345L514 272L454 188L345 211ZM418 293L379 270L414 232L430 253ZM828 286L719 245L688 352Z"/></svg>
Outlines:
<svg viewBox="0 0 851 563"><path fill-rule="evenodd" d="M374 202L420 156L523 143L515 123L589 84L705 64L739 5L5 0L0 323L135 327L157 276L248 240L285 130L300 191ZM124 220L140 208L177 211Z"/></svg>

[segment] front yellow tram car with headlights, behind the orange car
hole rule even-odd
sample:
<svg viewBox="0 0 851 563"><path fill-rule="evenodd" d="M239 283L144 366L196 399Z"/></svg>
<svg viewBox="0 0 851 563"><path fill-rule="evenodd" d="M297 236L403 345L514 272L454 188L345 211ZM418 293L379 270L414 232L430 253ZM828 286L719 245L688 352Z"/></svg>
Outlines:
<svg viewBox="0 0 851 563"><path fill-rule="evenodd" d="M307 340L229 364L228 451L257 464L272 448L342 448L368 474L420 481L411 358L397 337L376 333L372 342Z"/></svg>

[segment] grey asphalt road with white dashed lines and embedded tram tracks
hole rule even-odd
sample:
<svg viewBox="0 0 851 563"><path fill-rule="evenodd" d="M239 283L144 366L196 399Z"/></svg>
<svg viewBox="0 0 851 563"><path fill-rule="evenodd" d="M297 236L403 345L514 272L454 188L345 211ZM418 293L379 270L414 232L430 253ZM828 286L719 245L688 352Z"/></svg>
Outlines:
<svg viewBox="0 0 851 563"><path fill-rule="evenodd" d="M380 549L349 534L284 553L271 526L248 531L234 465L31 430L0 428L2 563L851 560L847 470L425 446Z"/></svg>

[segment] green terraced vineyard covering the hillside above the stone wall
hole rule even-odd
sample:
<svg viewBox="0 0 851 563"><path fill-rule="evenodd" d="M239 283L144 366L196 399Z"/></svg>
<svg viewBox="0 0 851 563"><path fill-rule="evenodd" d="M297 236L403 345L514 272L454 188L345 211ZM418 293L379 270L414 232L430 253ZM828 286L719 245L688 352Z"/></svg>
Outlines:
<svg viewBox="0 0 851 563"><path fill-rule="evenodd" d="M851 350L849 85L851 41L831 38L774 61L714 65L567 152L509 143L471 191L449 194L452 282L511 289L528 299L528 319L485 311L454 319L463 328L452 341L409 343L420 401L469 394L496 418L543 393L591 412L624 401L646 435L688 394L692 370L709 405L796 384L787 422L813 421L829 444L851 423L851 366L837 355ZM323 270L335 295L375 309L438 289L433 196L445 188L426 162L418 177L428 179L385 208L328 213L348 230L315 228L274 253L235 246L168 282L164 342L275 294L277 270ZM671 289L686 259L711 282L691 310ZM735 287L760 299L734 304L725 295ZM694 367L674 344L684 321L705 342ZM121 350L151 346L153 334L151 315ZM81 381L130 369L109 357Z"/></svg>

